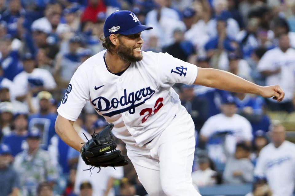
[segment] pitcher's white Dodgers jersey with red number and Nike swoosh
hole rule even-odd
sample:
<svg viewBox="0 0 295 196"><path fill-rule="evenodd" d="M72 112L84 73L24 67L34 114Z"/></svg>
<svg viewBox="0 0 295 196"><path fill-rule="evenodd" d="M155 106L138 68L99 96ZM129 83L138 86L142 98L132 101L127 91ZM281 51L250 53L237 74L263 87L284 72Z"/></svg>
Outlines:
<svg viewBox="0 0 295 196"><path fill-rule="evenodd" d="M77 69L57 112L75 121L89 100L98 114L115 125L117 138L141 147L160 134L182 107L171 86L193 84L197 66L167 53L143 51L143 60L132 62L118 76L107 70L105 52Z"/></svg>

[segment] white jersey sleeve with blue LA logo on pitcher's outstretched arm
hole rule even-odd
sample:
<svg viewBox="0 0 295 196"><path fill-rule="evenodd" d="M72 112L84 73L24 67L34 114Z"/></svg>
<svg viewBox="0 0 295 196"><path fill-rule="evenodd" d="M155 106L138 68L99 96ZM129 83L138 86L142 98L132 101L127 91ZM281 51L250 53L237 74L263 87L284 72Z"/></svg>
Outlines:
<svg viewBox="0 0 295 196"><path fill-rule="evenodd" d="M191 85L194 83L198 68L196 65L174 58L168 53L158 53L158 76L160 86L169 87L175 83Z"/></svg>

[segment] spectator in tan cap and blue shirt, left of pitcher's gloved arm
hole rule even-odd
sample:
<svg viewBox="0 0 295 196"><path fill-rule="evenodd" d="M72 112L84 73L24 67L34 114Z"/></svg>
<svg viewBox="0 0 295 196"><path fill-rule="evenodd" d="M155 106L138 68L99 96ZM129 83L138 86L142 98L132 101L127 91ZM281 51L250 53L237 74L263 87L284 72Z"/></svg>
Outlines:
<svg viewBox="0 0 295 196"><path fill-rule="evenodd" d="M37 128L41 132L41 147L47 149L51 138L55 135L55 119L57 114L50 112L52 95L48 91L37 94L39 112L29 115L29 130Z"/></svg>

